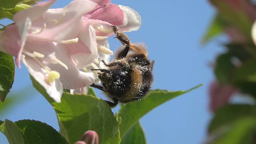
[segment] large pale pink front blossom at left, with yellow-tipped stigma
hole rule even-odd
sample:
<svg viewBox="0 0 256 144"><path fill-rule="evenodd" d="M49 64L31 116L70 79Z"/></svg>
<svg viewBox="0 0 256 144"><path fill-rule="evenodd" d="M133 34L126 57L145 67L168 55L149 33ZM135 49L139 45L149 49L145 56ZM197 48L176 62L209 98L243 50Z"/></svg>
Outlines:
<svg viewBox="0 0 256 144"><path fill-rule="evenodd" d="M97 54L95 30L83 16L99 6L90 0L74 0L64 8L48 9L56 0L42 2L14 15L15 25L0 33L0 50L16 56L56 101L63 88L92 84L92 72L78 69L91 64ZM84 59L80 59L84 57Z"/></svg>

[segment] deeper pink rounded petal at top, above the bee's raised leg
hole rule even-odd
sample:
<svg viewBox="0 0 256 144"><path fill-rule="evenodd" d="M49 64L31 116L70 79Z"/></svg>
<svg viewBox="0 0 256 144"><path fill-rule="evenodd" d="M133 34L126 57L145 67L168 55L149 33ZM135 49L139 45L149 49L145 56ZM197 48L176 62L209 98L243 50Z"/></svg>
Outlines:
<svg viewBox="0 0 256 144"><path fill-rule="evenodd" d="M88 19L102 20L114 26L123 26L127 24L127 17L120 7L116 4L99 8Z"/></svg>

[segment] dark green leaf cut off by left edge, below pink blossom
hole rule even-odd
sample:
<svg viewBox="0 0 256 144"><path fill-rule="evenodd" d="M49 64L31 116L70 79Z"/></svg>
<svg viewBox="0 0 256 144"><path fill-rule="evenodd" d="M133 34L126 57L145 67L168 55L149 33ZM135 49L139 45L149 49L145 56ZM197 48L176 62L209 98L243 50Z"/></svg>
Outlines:
<svg viewBox="0 0 256 144"><path fill-rule="evenodd" d="M4 102L14 82L14 60L12 56L0 52L0 99Z"/></svg>

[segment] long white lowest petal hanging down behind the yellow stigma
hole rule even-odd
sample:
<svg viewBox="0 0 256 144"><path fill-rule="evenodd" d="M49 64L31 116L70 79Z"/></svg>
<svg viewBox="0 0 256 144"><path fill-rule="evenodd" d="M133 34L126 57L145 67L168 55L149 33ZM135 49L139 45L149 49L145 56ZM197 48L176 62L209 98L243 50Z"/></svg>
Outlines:
<svg viewBox="0 0 256 144"><path fill-rule="evenodd" d="M63 92L62 83L60 82L60 80L55 79L54 82L49 83L46 80L42 68L33 58L25 58L25 56L22 55L21 61L27 67L30 75L33 76L33 78L44 87L47 94L49 94L49 96L53 98L56 102L60 102Z"/></svg>

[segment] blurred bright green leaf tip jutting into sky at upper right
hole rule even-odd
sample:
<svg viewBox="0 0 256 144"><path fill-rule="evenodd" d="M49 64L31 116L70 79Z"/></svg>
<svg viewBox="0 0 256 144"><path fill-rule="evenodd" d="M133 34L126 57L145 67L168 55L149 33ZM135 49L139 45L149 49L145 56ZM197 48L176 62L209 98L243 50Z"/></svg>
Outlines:
<svg viewBox="0 0 256 144"><path fill-rule="evenodd" d="M215 36L218 36L223 32L223 29L224 29L223 21L224 20L222 20L220 14L216 14L216 16L214 16L212 23L210 24L207 32L204 34L204 37L202 38L203 45L209 42L209 40L211 40Z"/></svg>

